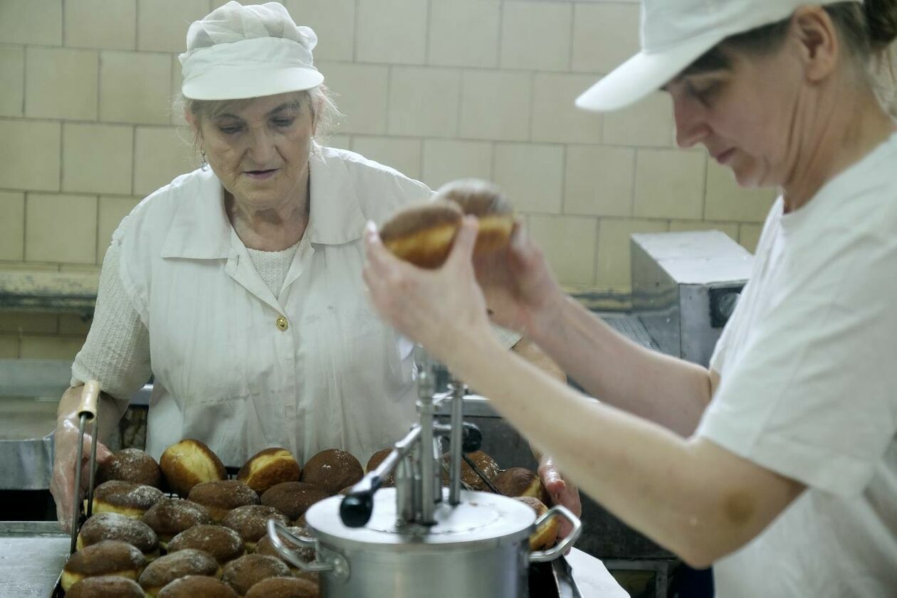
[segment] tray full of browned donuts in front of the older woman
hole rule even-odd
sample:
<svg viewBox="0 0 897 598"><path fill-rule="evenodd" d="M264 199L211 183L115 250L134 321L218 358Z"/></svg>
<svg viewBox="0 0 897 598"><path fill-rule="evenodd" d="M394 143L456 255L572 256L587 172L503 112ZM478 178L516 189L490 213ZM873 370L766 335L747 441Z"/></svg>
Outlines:
<svg viewBox="0 0 897 598"><path fill-rule="evenodd" d="M373 466L381 458L371 457ZM363 474L337 449L300 466L289 451L266 448L240 468L193 439L169 446L158 463L123 449L97 468L91 516L81 518L51 598L318 597L317 574L280 559L266 522L308 535L305 511Z"/></svg>

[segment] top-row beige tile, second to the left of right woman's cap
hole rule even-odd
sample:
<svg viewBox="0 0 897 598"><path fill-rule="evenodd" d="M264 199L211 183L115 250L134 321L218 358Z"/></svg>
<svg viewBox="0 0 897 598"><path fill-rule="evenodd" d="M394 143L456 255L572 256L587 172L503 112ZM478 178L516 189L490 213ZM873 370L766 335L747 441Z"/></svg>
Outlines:
<svg viewBox="0 0 897 598"><path fill-rule="evenodd" d="M572 15L572 4L566 2L505 2L501 68L568 70Z"/></svg>

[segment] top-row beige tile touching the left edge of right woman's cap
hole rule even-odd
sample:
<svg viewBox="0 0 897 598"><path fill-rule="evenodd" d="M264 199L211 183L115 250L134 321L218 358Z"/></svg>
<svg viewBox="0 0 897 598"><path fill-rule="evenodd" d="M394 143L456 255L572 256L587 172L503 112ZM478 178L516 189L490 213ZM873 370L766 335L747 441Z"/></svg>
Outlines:
<svg viewBox="0 0 897 598"><path fill-rule="evenodd" d="M639 4L579 2L574 6L574 71L607 74L639 51Z"/></svg>

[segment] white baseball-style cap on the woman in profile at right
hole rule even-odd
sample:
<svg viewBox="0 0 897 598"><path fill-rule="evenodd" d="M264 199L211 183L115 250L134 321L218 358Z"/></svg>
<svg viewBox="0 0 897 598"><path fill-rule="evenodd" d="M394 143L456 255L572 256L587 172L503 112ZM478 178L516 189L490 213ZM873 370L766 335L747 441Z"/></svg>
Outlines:
<svg viewBox="0 0 897 598"><path fill-rule="evenodd" d="M658 91L723 39L783 21L800 6L843 1L642 0L641 51L592 85L576 105L597 112L625 108Z"/></svg>

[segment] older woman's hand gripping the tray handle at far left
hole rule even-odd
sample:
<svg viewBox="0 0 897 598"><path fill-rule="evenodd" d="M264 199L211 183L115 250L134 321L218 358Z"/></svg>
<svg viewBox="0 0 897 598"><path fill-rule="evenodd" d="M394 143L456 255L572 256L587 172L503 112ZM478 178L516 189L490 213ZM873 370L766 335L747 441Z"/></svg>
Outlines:
<svg viewBox="0 0 897 598"><path fill-rule="evenodd" d="M70 532L72 527L72 507L74 504L74 466L78 448L78 423L74 419L74 413L57 420L56 433L53 436L53 479L50 481L50 494L57 504L57 519L59 525ZM84 434L83 457L81 466L81 488L78 490L78 500L88 490L91 483L90 458L91 442L93 437ZM109 448L97 442L97 464L109 459L112 453Z"/></svg>

